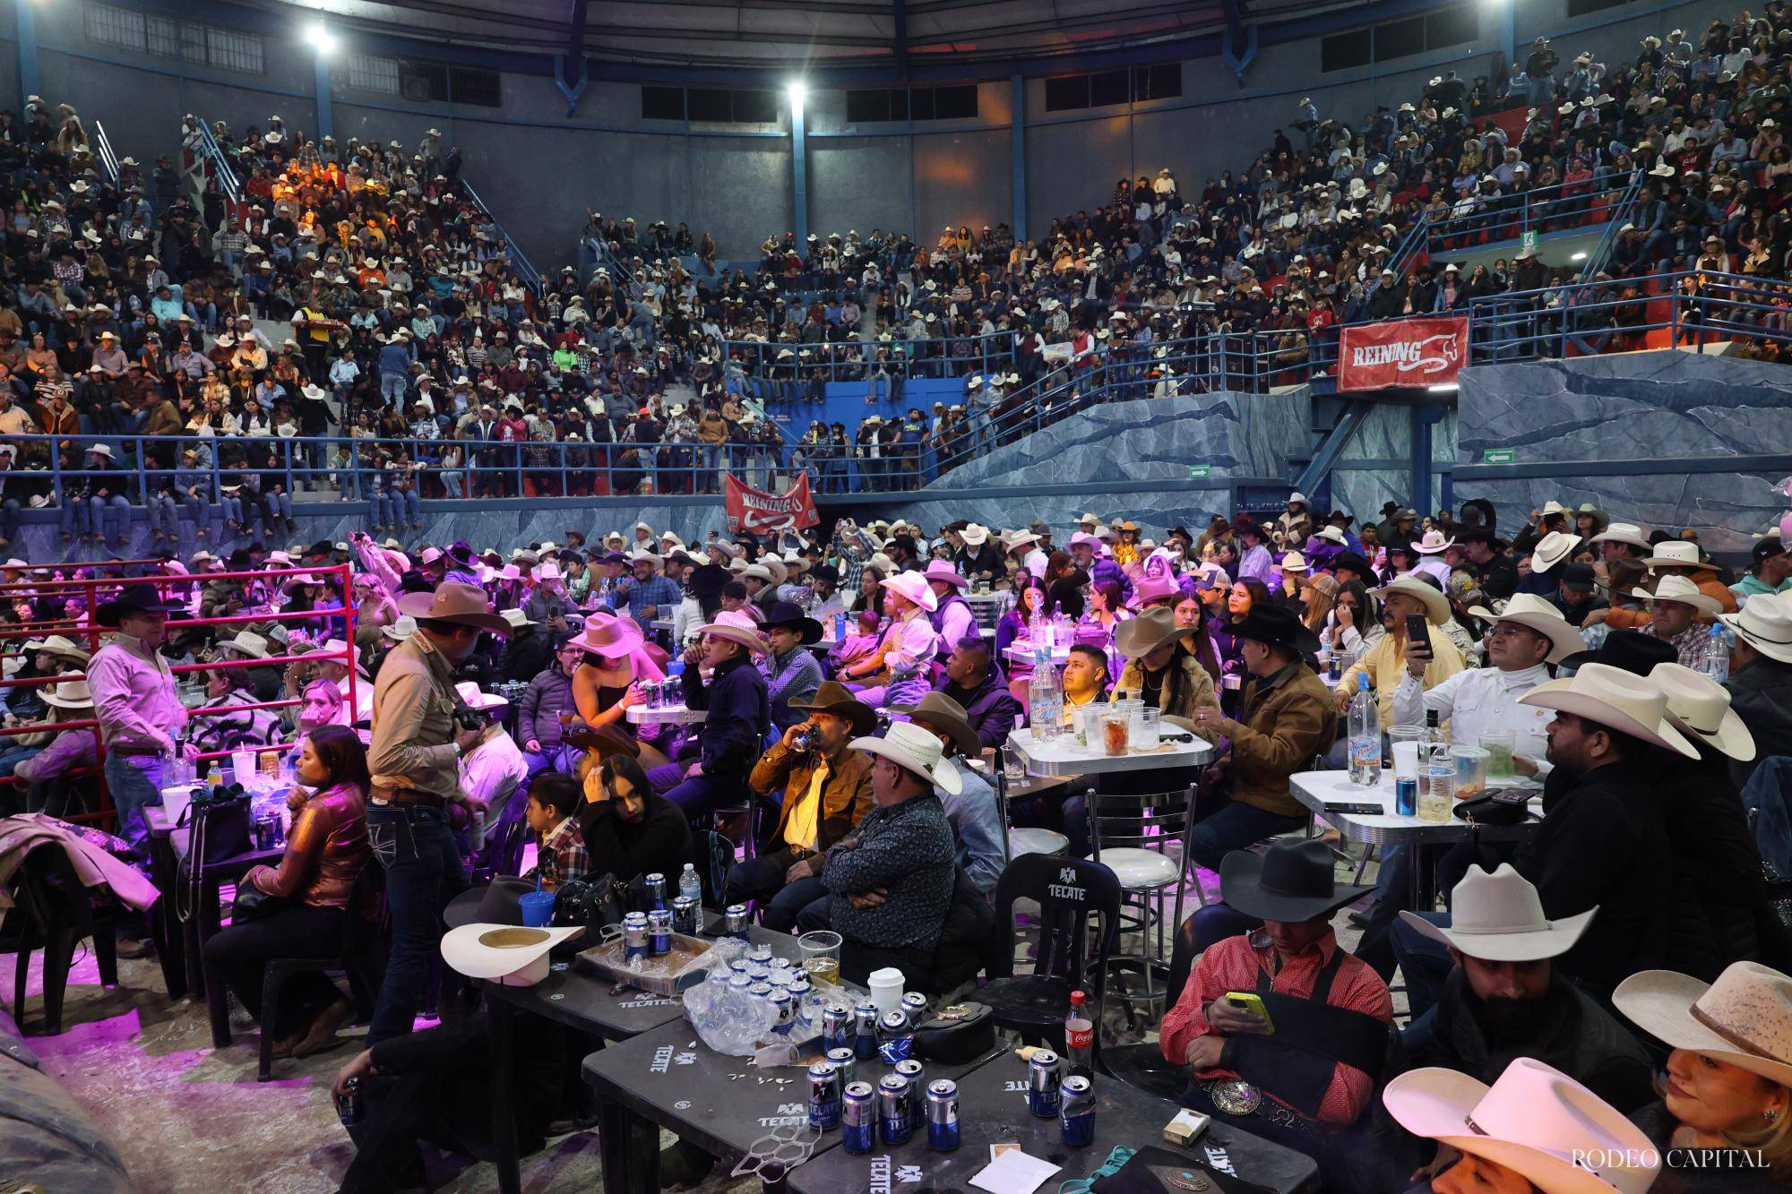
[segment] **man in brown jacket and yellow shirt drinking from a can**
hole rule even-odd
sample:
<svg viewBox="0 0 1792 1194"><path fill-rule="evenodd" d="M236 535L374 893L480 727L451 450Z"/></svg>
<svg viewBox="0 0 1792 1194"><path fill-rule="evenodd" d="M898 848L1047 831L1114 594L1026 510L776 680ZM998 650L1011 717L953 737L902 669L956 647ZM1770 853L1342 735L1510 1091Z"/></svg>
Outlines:
<svg viewBox="0 0 1792 1194"><path fill-rule="evenodd" d="M780 800L776 848L735 866L726 896L728 904L762 902L762 923L780 932L790 930L803 905L826 895L823 855L871 812L871 758L846 744L878 721L869 705L831 679L796 708L808 719L785 730L747 776L754 792ZM806 751L792 746L799 733L808 735Z"/></svg>

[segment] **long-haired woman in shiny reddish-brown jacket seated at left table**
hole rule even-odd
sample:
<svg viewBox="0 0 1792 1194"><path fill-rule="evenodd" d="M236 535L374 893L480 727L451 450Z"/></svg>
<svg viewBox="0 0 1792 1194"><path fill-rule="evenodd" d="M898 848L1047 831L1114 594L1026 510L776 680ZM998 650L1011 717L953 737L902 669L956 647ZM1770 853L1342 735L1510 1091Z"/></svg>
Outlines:
<svg viewBox="0 0 1792 1194"><path fill-rule="evenodd" d="M287 853L280 868L256 866L238 887L231 925L206 941L206 961L251 1017L262 1015L262 965L269 957L335 957L349 916L355 880L367 866L367 748L348 726L319 726L305 737ZM244 893L258 891L262 909ZM337 1029L349 1004L321 972L287 982L276 1058L303 1058L342 1043Z"/></svg>

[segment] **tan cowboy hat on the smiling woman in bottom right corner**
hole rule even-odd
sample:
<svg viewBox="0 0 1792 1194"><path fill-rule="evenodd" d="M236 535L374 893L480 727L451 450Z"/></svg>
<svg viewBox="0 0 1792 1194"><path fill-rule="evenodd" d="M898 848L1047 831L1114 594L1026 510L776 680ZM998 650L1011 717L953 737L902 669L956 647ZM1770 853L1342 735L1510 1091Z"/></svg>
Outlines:
<svg viewBox="0 0 1792 1194"><path fill-rule="evenodd" d="M1731 963L1717 982L1641 970L1611 993L1631 1024L1672 1049L1690 1049L1792 1086L1792 979L1760 963Z"/></svg>

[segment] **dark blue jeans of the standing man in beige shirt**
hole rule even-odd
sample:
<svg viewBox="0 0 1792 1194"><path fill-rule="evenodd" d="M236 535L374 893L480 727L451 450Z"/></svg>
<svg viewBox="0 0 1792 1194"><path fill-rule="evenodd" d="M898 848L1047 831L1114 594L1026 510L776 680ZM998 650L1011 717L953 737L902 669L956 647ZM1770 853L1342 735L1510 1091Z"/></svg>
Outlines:
<svg viewBox="0 0 1792 1194"><path fill-rule="evenodd" d="M448 816L432 805L367 805L367 843L385 868L392 954L373 1008L367 1045L410 1031L423 1008L430 959L443 939L443 907L466 887Z"/></svg>

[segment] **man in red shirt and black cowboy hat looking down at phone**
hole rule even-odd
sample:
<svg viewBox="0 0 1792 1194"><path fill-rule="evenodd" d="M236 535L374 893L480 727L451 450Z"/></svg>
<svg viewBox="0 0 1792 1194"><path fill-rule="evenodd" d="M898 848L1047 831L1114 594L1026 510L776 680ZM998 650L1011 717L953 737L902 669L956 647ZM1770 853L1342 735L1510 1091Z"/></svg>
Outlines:
<svg viewBox="0 0 1792 1194"><path fill-rule="evenodd" d="M1366 891L1335 884L1317 839L1226 855L1220 895L1262 929L1210 945L1163 1017L1165 1060L1193 1072L1186 1106L1310 1156L1340 1144L1374 1097L1394 1017L1387 984L1331 932ZM1262 997L1269 1024L1229 991Z"/></svg>

